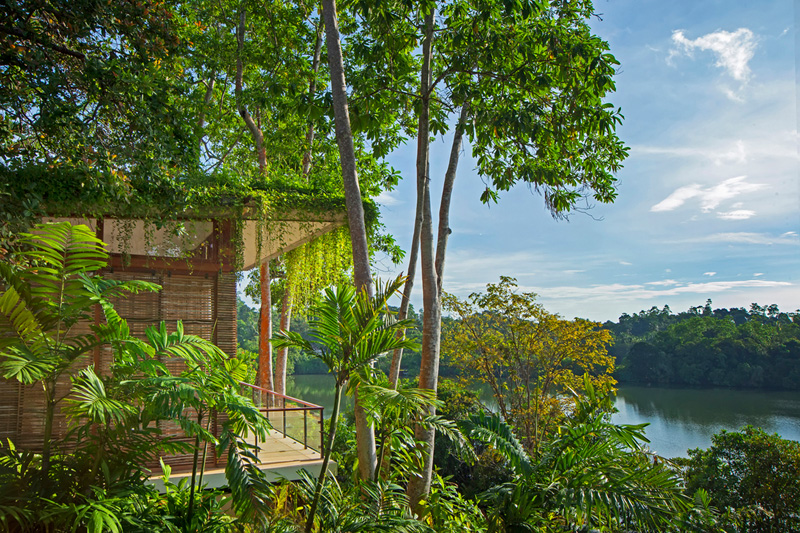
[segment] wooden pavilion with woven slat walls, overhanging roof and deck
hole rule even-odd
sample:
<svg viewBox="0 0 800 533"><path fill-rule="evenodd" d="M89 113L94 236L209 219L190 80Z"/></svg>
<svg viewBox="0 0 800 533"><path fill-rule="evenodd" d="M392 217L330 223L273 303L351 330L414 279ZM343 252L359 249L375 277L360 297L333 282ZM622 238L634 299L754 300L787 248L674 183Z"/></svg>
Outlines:
<svg viewBox="0 0 800 533"><path fill-rule="evenodd" d="M102 272L106 278L138 279L156 283L159 292L145 292L120 298L117 312L127 320L131 333L143 336L146 328L161 321L174 328L181 320L186 333L214 342L230 356L236 355L236 272L257 267L346 223L343 211L307 213L293 210L281 217L257 220L256 217L226 216L187 218L177 224L162 224L141 219L58 218L73 224L86 224L107 244L110 261ZM236 225L240 225L236 228ZM177 236L176 227L183 233ZM95 313L99 322L101 313ZM74 371L94 364L98 373L109 371L110 351L95 350L92 358L76 362ZM179 361L166 361L172 371L180 371ZM64 375L63 390L69 387ZM249 392L269 394L257 387ZM274 395L274 393L271 393ZM322 408L293 398L269 402L263 410L273 427L273 439L257 443L262 470L291 478L299 468L313 472L319 468ZM277 407L276 407L277 405ZM44 436L44 397L36 386L24 387L17 381L0 379L0 439L10 439L23 449L41 449ZM288 422L287 422L288 420ZM160 423L167 438L186 439L176 422ZM57 413L54 436L63 436L68 421ZM292 438L294 437L294 438ZM192 439L193 440L193 439ZM191 465L191 455L164 458L178 476ZM211 486L224 484L223 460L212 452L206 462L205 480ZM158 465L148 465L158 473Z"/></svg>

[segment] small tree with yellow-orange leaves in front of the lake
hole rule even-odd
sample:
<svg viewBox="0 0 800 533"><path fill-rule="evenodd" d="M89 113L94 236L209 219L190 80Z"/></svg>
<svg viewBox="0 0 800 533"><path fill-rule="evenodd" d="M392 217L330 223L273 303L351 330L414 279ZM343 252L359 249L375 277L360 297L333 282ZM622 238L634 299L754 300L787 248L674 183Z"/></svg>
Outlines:
<svg viewBox="0 0 800 533"><path fill-rule="evenodd" d="M500 414L530 451L571 412L568 389L580 392L585 374L597 390L616 383L611 334L597 322L548 312L535 293L518 292L514 278L501 277L466 300L448 294L444 304L456 320L445 328L443 353L462 379L492 389Z"/></svg>

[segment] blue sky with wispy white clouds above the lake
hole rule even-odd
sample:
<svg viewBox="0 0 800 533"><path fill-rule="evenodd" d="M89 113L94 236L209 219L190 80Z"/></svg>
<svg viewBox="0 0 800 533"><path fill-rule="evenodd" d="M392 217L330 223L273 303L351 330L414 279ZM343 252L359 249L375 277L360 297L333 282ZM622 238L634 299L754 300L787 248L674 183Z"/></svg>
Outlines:
<svg viewBox="0 0 800 533"><path fill-rule="evenodd" d="M630 147L616 202L568 221L524 186L482 204L466 146L444 290L466 297L512 276L549 311L598 321L709 298L715 308L800 308L796 9L790 0L596 0L592 28L621 63L608 101L622 108L617 133ZM413 144L390 157L404 180L379 197L404 249ZM435 202L449 148L449 138L432 147ZM382 278L402 268L375 265ZM417 283L412 303L421 301Z"/></svg>

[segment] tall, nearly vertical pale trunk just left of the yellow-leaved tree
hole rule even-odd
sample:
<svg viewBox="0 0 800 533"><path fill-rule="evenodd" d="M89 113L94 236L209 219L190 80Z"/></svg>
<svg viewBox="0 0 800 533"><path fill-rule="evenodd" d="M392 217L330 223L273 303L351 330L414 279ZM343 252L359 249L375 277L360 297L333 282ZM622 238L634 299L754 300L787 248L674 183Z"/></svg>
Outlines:
<svg viewBox="0 0 800 533"><path fill-rule="evenodd" d="M420 114L417 132L417 194L422 194L422 224L420 227L420 259L422 264L422 361L419 388L436 390L439 376L439 327L441 325L439 289L434 265L433 221L430 195L430 88L431 58L433 54L434 8L425 15L425 40L422 45L422 72L420 76ZM417 423L414 428L417 441L427 445L420 476L408 481L408 498L411 510L419 515L420 501L430 490L433 468L433 438L430 428Z"/></svg>

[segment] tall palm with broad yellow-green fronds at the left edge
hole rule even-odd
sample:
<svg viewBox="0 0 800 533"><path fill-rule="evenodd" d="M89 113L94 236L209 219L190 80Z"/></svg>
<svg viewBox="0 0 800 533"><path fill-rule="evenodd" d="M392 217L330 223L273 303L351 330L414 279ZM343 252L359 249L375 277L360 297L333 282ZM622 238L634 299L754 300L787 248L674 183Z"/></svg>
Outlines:
<svg viewBox="0 0 800 533"><path fill-rule="evenodd" d="M108 254L88 227L68 222L37 225L18 240L23 266L0 263L0 372L23 385L39 383L44 393L42 475L47 477L56 407L66 391L59 378L81 366L96 347L124 340L126 326L110 299L157 290L144 281L103 280L94 276ZM94 305L106 324L91 324Z"/></svg>

